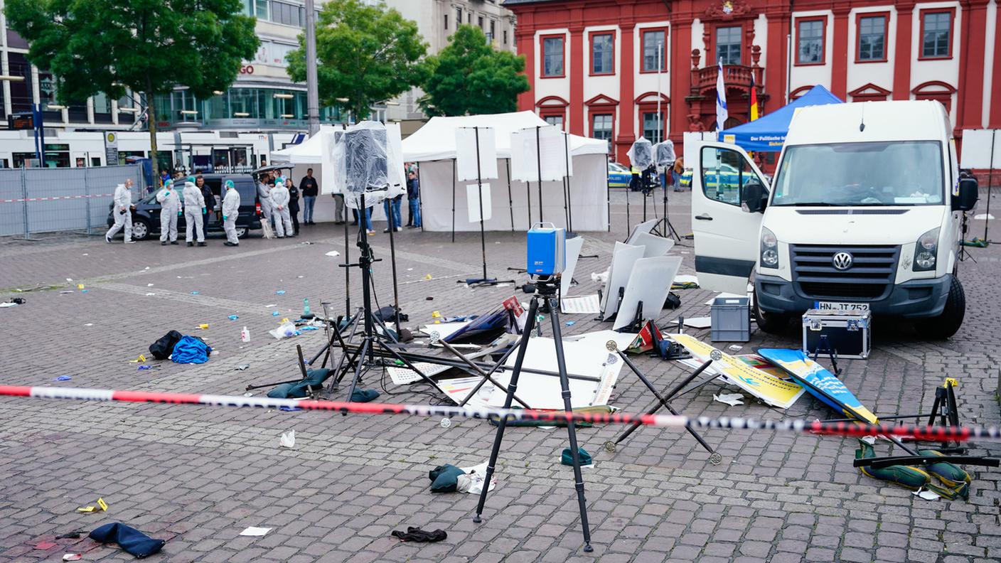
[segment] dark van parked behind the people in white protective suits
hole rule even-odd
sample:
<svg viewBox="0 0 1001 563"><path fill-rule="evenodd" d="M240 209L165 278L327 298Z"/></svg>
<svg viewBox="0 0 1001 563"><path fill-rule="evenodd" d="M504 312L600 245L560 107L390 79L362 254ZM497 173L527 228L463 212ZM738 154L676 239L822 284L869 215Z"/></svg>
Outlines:
<svg viewBox="0 0 1001 563"><path fill-rule="evenodd" d="M240 194L240 213L236 217L236 236L243 238L251 228L260 228L260 211L257 207L257 187L250 174L202 174L212 193L215 194L215 204L222 207L222 184L226 180L233 180L236 190ZM177 194L181 196L184 189L183 178L177 186ZM113 206L114 203L111 204ZM108 226L114 224L113 209L108 211ZM184 236L184 216L177 217L177 232L179 237ZM136 201L135 209L132 211L132 238L134 240L144 240L150 238L154 233L160 231L160 203L156 200L156 192L150 193ZM205 225L205 232L223 232L222 213L217 209L209 209L208 224Z"/></svg>

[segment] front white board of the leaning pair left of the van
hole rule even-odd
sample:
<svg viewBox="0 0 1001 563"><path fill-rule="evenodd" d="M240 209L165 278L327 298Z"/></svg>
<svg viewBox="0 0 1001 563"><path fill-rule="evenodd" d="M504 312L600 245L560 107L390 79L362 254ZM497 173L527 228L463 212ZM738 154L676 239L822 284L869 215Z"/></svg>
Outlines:
<svg viewBox="0 0 1001 563"><path fill-rule="evenodd" d="M681 256L658 256L636 260L613 329L619 330L632 323L640 302L643 302L641 321L657 321L661 317L664 302L668 299L671 285L674 284L675 275L681 266Z"/></svg>

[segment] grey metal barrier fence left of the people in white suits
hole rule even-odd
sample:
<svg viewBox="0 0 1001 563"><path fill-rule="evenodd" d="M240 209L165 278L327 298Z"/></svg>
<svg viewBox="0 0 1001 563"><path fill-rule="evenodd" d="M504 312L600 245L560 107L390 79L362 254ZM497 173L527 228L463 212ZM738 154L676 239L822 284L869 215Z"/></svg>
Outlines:
<svg viewBox="0 0 1001 563"><path fill-rule="evenodd" d="M0 236L107 228L115 186L132 178L132 200L146 193L142 167L0 169Z"/></svg>

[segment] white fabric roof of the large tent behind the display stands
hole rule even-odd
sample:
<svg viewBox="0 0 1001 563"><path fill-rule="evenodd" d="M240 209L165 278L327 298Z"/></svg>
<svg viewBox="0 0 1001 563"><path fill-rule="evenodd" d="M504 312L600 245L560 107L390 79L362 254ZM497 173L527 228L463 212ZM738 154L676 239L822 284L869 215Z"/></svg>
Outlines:
<svg viewBox="0 0 1001 563"><path fill-rule="evenodd" d="M455 129L458 127L493 127L497 158L511 157L511 134L517 130L548 125L532 111L431 117L413 134L403 139L403 160L426 162L455 157ZM571 155L608 154L608 141L580 135L570 136Z"/></svg>

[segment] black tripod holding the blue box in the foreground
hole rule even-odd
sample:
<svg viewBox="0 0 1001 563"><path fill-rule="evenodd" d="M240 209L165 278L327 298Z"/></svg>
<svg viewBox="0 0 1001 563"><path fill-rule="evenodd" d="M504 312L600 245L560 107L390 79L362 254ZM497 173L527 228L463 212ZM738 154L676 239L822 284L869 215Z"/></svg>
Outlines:
<svg viewBox="0 0 1001 563"><path fill-rule="evenodd" d="M505 397L504 408L510 409L518 390L518 380L522 375L522 364L525 362L525 353L529 349L530 335L536 328L536 316L540 311L542 302L542 312L550 315L550 322L553 326L553 341L556 345L557 368L560 372L560 389L563 391L564 410L571 412L573 409L570 402L570 379L567 377L567 360L564 357L563 339L560 335L560 300L557 295L560 290L560 277L557 275L540 276L536 280L536 294L532 297L529 305L529 319L525 323L522 342L519 343L518 356L515 358L515 370L511 375L511 383L508 384L508 394ZM490 460L486 464L485 481L483 490L479 494L479 503L476 505L476 516L472 521L482 522L480 515L483 513L483 505L486 504L486 493L489 491L490 479L493 477L493 468L497 462L497 455L500 453L500 443L504 441L504 431L508 425L508 419L502 417L497 420L497 433L493 438L493 449L490 450ZM570 451L574 461L574 482L577 489L577 501L581 507L581 526L584 529L584 550L594 551L591 547L591 529L588 526L588 506L584 498L584 477L581 474L581 455L577 446L577 430L573 423L567 425L567 433L570 436Z"/></svg>

